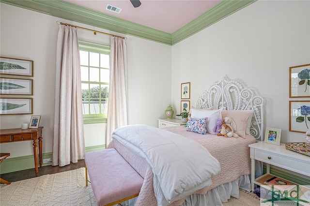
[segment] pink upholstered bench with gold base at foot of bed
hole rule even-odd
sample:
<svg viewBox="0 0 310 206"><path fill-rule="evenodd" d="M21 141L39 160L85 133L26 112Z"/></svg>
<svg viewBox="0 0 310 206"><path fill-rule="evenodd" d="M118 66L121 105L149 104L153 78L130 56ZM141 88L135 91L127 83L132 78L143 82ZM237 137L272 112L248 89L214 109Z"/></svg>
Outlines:
<svg viewBox="0 0 310 206"><path fill-rule="evenodd" d="M87 152L86 170L98 206L113 206L139 195L143 178L113 148Z"/></svg>

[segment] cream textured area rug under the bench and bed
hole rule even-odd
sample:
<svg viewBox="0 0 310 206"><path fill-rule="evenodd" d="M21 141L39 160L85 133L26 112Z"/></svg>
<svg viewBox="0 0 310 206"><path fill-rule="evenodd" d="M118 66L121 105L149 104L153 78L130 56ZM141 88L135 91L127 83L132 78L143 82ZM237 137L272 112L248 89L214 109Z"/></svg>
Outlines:
<svg viewBox="0 0 310 206"><path fill-rule="evenodd" d="M259 206L255 194L240 190L224 206ZM1 206L96 206L91 184L85 187L85 168L0 185Z"/></svg>

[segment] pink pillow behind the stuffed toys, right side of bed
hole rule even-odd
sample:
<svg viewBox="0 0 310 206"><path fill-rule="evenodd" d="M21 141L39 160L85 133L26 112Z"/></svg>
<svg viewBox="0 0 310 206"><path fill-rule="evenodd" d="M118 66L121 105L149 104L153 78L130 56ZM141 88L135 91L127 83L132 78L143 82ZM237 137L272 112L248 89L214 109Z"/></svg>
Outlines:
<svg viewBox="0 0 310 206"><path fill-rule="evenodd" d="M248 118L253 116L253 110L222 110L222 118L230 117L236 123L236 134L245 138Z"/></svg>

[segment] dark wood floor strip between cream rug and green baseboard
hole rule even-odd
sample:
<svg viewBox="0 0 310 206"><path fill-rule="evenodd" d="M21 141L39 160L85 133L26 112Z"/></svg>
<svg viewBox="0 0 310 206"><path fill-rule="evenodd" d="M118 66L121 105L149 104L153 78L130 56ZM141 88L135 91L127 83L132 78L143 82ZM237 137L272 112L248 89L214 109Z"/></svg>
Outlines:
<svg viewBox="0 0 310 206"><path fill-rule="evenodd" d="M75 169L78 169L81 167L85 167L84 160L79 160L77 163L71 163L71 164L63 166L63 167L51 166L51 165L42 166L42 167L39 167L38 177L43 176L43 175L48 175L48 174L65 172L65 171L69 171L69 170L75 170ZM35 172L34 172L34 168L32 168L32 169L21 170L21 171L17 171L17 172L1 174L0 177L2 179L9 181L9 182L16 182L19 180L30 179L30 178L35 177Z"/></svg>

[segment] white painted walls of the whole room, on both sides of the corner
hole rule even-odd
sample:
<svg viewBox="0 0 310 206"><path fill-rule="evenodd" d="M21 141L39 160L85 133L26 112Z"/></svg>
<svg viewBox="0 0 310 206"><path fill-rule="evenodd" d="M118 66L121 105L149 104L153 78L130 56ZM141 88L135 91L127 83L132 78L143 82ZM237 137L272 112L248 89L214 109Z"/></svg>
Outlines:
<svg viewBox="0 0 310 206"><path fill-rule="evenodd" d="M0 3L0 55L34 60L34 111L44 126L43 152L53 136L56 21ZM117 34L117 33L116 33ZM125 36L122 34L118 34ZM80 40L109 45L109 37L78 30ZM127 37L129 124L157 126L169 103L180 112L180 84L191 82L191 103L227 75L255 88L265 100L265 126L282 129L281 142L304 142L289 132L289 67L310 63L310 1L259 0L171 46ZM171 73L172 68L172 73ZM0 128L18 128L31 115L0 116ZM84 125L86 147L104 144L105 124ZM11 157L32 155L30 142L0 144Z"/></svg>

